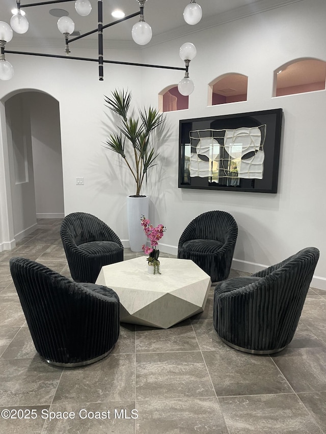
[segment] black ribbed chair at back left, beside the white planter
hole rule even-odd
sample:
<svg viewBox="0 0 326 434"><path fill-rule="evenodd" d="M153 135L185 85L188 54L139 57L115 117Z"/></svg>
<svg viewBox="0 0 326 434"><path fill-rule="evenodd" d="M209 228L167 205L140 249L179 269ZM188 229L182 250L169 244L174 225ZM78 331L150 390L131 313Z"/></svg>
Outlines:
<svg viewBox="0 0 326 434"><path fill-rule="evenodd" d="M123 261L120 239L92 214L67 215L63 219L60 235L71 277L76 282L95 283L104 265Z"/></svg>

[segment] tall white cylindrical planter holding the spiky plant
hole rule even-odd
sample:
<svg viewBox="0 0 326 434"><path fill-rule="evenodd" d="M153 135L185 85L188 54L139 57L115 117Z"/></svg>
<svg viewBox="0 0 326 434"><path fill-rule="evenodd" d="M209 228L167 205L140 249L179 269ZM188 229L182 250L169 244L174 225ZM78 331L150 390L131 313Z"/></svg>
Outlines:
<svg viewBox="0 0 326 434"><path fill-rule="evenodd" d="M142 245L146 244L147 237L141 225L141 217L148 218L149 196L127 197L127 222L130 249L133 252L141 252Z"/></svg>

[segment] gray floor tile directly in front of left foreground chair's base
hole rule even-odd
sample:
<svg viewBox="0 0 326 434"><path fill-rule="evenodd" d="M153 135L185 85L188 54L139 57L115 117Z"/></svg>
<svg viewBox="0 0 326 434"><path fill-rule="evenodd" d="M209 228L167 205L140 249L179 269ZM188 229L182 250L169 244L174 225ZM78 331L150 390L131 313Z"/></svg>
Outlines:
<svg viewBox="0 0 326 434"><path fill-rule="evenodd" d="M135 399L134 354L109 354L92 365L65 368L53 404Z"/></svg>

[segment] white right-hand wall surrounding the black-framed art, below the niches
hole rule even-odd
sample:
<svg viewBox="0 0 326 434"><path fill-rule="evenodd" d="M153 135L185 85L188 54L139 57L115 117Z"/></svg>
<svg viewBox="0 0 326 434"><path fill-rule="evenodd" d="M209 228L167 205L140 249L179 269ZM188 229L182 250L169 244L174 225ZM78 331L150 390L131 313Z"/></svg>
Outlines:
<svg viewBox="0 0 326 434"><path fill-rule="evenodd" d="M176 245L185 225L201 212L230 212L239 226L234 266L254 271L308 247L320 249L313 283L326 288L326 199L323 162L325 91L272 98L274 71L290 60L316 57L326 61L326 3L303 1L239 19L191 37L146 50L145 62L176 64L178 47L193 42L197 56L189 73L195 91L189 109L167 113L169 139L162 151L164 171L153 192L155 224L167 225L164 243ZM313 32L311 31L313 29ZM207 83L227 72L249 76L248 101L208 106ZM146 75L150 101L169 77ZM178 121L212 115L283 108L279 188L277 194L178 189Z"/></svg>

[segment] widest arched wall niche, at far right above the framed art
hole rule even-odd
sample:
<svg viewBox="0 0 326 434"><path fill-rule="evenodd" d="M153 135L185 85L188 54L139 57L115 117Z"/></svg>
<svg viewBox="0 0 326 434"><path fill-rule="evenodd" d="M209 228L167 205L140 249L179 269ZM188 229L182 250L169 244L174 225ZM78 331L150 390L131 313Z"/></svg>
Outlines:
<svg viewBox="0 0 326 434"><path fill-rule="evenodd" d="M313 57L291 60L274 71L273 97L325 89L326 62Z"/></svg>

